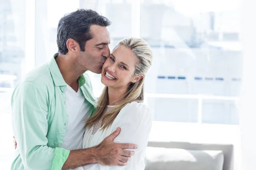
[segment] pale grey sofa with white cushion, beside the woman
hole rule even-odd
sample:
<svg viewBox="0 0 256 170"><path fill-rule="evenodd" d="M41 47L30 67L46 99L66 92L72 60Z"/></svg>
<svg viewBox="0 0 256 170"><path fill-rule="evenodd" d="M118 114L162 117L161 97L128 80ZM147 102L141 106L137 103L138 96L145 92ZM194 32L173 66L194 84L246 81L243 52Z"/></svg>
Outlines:
<svg viewBox="0 0 256 170"><path fill-rule="evenodd" d="M145 170L233 170L233 145L148 142Z"/></svg>

